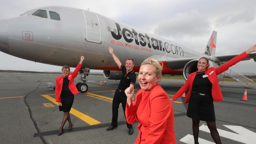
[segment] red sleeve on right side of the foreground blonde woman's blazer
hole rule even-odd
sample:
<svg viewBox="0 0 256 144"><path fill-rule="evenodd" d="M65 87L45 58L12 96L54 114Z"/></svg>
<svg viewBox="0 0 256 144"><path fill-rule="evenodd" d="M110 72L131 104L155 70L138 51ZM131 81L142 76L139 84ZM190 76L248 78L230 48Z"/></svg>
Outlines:
<svg viewBox="0 0 256 144"><path fill-rule="evenodd" d="M150 126L145 144L159 144L161 142L167 119L171 113L171 101L167 99L166 93L157 90L152 95L152 97L150 96Z"/></svg>

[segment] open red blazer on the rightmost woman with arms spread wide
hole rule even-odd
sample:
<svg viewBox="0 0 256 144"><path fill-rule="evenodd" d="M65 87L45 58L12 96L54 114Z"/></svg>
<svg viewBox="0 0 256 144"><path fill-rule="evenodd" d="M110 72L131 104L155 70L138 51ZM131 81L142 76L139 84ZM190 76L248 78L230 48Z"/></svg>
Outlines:
<svg viewBox="0 0 256 144"><path fill-rule="evenodd" d="M222 93L221 93L221 88L219 87L219 81L218 81L217 75L225 72L226 70L228 70L228 68L230 66L235 65L236 63L245 59L248 56L249 55L246 54L246 52L243 52L242 54L237 55L236 57L234 57L230 61L224 63L223 65L221 65L217 68L210 67L210 68L205 70L205 74L208 75L207 78L210 80L210 82L212 84L211 95L212 95L212 98L215 102L219 102L219 101L223 100L223 96L222 96ZM186 99L185 99L184 103L189 102L189 98L190 98L190 95L191 95L191 92L192 92L192 85L193 85L193 81L195 79L195 76L196 76L196 72L193 72L193 73L189 74L186 83L173 96L172 99L174 101L177 100L189 88L189 91L187 93L187 96L186 96Z"/></svg>

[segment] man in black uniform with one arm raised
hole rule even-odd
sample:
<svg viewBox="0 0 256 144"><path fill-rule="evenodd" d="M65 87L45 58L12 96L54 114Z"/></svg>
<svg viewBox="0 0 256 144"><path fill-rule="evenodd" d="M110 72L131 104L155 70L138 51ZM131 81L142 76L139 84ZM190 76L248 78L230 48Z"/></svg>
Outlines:
<svg viewBox="0 0 256 144"><path fill-rule="evenodd" d="M118 89L115 90L115 95L113 98L111 126L107 128L107 131L111 131L111 130L117 128L118 108L119 108L120 103L122 103L122 109L125 114L127 97L124 93L124 90L127 87L132 87L132 90L133 90L135 82L136 82L136 75L133 70L133 67L134 67L133 59L131 59L131 58L127 59L125 66L123 66L122 63L120 62L120 60L118 59L118 57L114 54L113 48L111 48L111 46L109 46L108 50L109 50L109 53L112 55L115 63L117 63L118 67L122 71L122 78L119 82ZM124 117L125 117L125 115L124 115ZM126 125L129 129L128 134L132 135L134 133L132 125L128 124L127 122L126 122Z"/></svg>

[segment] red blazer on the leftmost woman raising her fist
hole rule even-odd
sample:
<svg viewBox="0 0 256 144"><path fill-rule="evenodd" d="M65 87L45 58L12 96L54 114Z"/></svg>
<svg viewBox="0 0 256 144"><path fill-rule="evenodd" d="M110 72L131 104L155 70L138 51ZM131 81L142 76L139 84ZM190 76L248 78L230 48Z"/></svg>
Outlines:
<svg viewBox="0 0 256 144"><path fill-rule="evenodd" d="M76 89L76 86L74 84L74 79L76 78L78 71L80 70L81 67L82 67L82 64L78 63L74 72L73 73L70 72L68 74L69 90L74 95L78 94L78 90ZM62 84L63 84L63 76L57 77L56 78L56 87L55 87L55 98L56 98L56 102L60 102L60 103L61 103L60 94L61 94L61 90L62 90Z"/></svg>

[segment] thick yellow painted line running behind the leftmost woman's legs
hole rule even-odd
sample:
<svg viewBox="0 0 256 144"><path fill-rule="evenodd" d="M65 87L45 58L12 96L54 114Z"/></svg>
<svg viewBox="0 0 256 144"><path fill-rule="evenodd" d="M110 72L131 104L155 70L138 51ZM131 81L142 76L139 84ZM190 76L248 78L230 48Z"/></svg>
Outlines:
<svg viewBox="0 0 256 144"><path fill-rule="evenodd" d="M44 94L41 95L43 97L45 97L46 99L50 100L51 102L55 103L56 105L58 105L58 103L56 102L56 100L52 97L50 97L49 95L54 95L54 94ZM95 125L95 124L100 124L100 122L98 120L95 120L93 118L91 118L90 116L87 116L86 114L81 113L80 111L71 108L70 113L73 114L74 116L80 118L81 120L83 120L84 122L86 122L89 125Z"/></svg>

